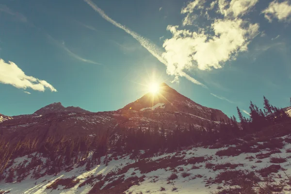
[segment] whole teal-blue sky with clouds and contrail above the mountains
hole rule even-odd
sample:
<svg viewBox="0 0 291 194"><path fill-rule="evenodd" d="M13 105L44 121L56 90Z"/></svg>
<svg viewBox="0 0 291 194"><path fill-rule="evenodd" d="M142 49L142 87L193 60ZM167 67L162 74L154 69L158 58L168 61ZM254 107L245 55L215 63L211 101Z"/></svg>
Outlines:
<svg viewBox="0 0 291 194"><path fill-rule="evenodd" d="M286 107L290 21L288 0L1 0L0 113L117 110L153 75L228 116Z"/></svg>

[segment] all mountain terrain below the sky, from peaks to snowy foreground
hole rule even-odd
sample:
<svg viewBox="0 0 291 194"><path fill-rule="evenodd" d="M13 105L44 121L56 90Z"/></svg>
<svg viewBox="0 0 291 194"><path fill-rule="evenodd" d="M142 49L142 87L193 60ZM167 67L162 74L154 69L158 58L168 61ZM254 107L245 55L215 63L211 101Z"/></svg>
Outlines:
<svg viewBox="0 0 291 194"><path fill-rule="evenodd" d="M164 83L117 111L52 103L0 123L0 194L290 193L291 118L270 118L220 122Z"/></svg>

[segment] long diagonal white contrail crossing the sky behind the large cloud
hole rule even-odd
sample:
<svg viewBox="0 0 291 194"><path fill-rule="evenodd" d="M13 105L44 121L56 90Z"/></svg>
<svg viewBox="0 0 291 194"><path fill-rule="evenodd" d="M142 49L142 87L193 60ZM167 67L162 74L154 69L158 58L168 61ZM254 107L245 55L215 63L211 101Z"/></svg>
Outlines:
<svg viewBox="0 0 291 194"><path fill-rule="evenodd" d="M112 23L117 28L120 28L127 32L129 35L131 35L135 40L137 40L145 49L147 49L154 57L156 57L162 64L168 66L167 61L162 57L162 50L156 46L154 43L149 41L148 39L144 38L143 36L139 35L136 32L131 31L126 26L114 21L112 18L107 16L102 9L100 9L95 3L93 3L91 0L84 0L88 5L90 5L101 17L106 19L108 22ZM207 88L203 83L195 80L185 72L180 72L180 76L185 77L187 80L192 81L195 84L201 85L205 88Z"/></svg>

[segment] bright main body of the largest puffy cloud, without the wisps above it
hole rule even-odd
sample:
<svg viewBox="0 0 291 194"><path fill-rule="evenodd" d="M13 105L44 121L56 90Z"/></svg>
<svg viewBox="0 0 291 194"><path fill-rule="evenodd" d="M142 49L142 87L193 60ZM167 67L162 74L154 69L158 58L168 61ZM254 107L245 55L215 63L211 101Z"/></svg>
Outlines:
<svg viewBox="0 0 291 194"><path fill-rule="evenodd" d="M240 51L246 51L249 41L258 33L258 24L247 24L242 19L217 19L211 25L214 35L205 32L178 30L168 26L173 37L165 40L163 53L168 71L189 70L194 63L201 70L222 68L223 63L235 59Z"/></svg>

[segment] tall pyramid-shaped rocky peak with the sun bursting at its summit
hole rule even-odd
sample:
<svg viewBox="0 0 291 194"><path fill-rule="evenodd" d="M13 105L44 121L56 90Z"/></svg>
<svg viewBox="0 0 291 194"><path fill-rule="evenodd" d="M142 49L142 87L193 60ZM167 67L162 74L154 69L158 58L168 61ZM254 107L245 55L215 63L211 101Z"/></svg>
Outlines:
<svg viewBox="0 0 291 194"><path fill-rule="evenodd" d="M119 109L117 113L129 117L129 121L124 123L128 128L158 125L172 130L178 126L188 128L189 124L206 127L208 124L229 119L222 111L197 104L165 83L160 85L158 95L147 93Z"/></svg>

